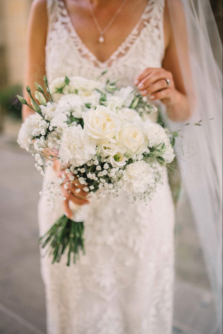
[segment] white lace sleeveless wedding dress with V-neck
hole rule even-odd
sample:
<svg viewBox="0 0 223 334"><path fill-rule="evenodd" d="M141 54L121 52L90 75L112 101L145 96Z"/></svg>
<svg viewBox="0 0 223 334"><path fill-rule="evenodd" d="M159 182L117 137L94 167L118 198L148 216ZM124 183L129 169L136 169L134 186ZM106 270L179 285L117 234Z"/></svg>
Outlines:
<svg viewBox="0 0 223 334"><path fill-rule="evenodd" d="M58 76L119 78L133 85L146 67L161 67L164 56L165 0L150 0L135 28L102 63L81 42L62 0L48 0L46 73ZM55 180L52 167L44 181ZM63 214L39 202L43 235ZM67 267L51 264L41 249L48 334L170 334L174 281L174 205L165 174L148 205L124 191L91 199L84 223L86 255Z"/></svg>

